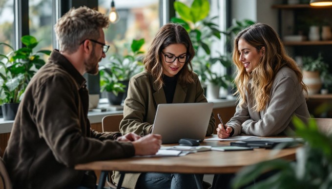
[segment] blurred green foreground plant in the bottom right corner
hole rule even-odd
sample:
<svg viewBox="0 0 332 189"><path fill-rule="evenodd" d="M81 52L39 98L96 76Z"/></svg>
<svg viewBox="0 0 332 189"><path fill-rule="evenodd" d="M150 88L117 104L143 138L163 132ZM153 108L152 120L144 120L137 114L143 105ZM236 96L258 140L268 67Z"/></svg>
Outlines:
<svg viewBox="0 0 332 189"><path fill-rule="evenodd" d="M319 132L313 119L308 124L297 117L292 121L296 127L296 135L305 141L297 151L296 161L277 159L246 167L233 179L234 189L246 186L270 170L276 170L276 173L256 182L255 189L330 189L332 187L332 136Z"/></svg>

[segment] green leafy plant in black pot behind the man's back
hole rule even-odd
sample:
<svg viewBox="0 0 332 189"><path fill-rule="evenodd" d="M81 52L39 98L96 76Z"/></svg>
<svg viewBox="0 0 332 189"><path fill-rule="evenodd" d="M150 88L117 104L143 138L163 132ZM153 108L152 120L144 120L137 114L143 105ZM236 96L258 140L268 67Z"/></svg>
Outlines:
<svg viewBox="0 0 332 189"><path fill-rule="evenodd" d="M38 41L32 36L23 36L21 41L25 47L18 50L9 44L0 43L12 49L7 55L0 55L0 103L4 120L15 119L25 88L32 76L45 64L42 56L51 54L48 50L34 53Z"/></svg>

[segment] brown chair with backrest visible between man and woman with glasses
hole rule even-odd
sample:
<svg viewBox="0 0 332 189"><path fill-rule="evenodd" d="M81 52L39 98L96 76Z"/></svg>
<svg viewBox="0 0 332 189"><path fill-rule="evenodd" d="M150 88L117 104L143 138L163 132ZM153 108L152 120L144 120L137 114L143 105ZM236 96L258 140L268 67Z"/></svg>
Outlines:
<svg viewBox="0 0 332 189"><path fill-rule="evenodd" d="M106 115L102 120L103 132L120 132L120 122L124 118L123 114L116 115ZM112 173L108 173L107 184L111 189L116 189L117 187L112 181Z"/></svg>

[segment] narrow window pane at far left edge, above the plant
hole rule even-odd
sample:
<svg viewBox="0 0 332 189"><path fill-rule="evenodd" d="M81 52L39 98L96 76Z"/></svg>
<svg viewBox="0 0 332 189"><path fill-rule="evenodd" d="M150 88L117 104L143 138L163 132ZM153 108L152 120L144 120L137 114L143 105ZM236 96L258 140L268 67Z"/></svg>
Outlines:
<svg viewBox="0 0 332 189"><path fill-rule="evenodd" d="M0 42L14 47L14 0L0 0ZM10 51L10 48L0 46L0 54Z"/></svg>

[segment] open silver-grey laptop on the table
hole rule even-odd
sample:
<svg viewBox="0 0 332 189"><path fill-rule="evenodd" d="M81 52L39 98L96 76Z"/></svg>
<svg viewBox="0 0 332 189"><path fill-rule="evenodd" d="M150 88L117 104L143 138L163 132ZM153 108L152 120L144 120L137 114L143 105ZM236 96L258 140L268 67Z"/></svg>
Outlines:
<svg viewBox="0 0 332 189"><path fill-rule="evenodd" d="M159 104L152 133L162 135L163 144L204 140L212 109L212 102Z"/></svg>

